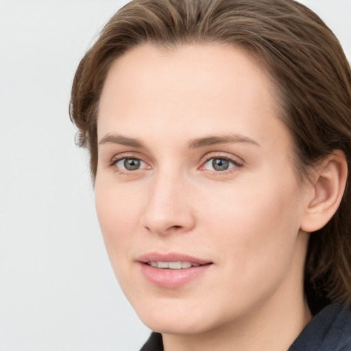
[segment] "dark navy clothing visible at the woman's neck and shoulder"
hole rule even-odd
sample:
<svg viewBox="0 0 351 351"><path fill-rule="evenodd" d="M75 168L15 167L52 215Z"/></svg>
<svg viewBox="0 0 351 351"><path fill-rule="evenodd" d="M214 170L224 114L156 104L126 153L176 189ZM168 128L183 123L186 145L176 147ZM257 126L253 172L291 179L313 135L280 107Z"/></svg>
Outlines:
<svg viewBox="0 0 351 351"><path fill-rule="evenodd" d="M153 332L140 351L163 351L162 336ZM337 304L322 309L288 351L351 351L351 313Z"/></svg>

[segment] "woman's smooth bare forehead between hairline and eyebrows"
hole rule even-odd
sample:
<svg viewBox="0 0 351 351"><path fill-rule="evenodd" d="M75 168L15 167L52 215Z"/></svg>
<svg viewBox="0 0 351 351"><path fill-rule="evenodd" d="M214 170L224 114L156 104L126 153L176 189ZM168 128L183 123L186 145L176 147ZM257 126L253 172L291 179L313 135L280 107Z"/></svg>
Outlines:
<svg viewBox="0 0 351 351"><path fill-rule="evenodd" d="M141 45L114 61L98 111L98 134L123 131L261 134L266 117L277 119L275 90L264 67L243 49L184 45L164 49ZM143 130L142 130L143 129ZM258 137L258 136L257 136ZM266 137L268 137L266 135Z"/></svg>

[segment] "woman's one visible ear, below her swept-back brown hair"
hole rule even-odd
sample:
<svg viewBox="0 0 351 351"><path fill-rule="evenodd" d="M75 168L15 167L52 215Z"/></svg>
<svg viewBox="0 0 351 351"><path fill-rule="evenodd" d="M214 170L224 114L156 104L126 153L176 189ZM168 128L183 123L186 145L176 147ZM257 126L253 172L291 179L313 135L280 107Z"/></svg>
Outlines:
<svg viewBox="0 0 351 351"><path fill-rule="evenodd" d="M306 207L302 217L301 230L315 232L323 228L337 211L348 176L346 156L341 150L334 150L315 169L313 182L308 184Z"/></svg>

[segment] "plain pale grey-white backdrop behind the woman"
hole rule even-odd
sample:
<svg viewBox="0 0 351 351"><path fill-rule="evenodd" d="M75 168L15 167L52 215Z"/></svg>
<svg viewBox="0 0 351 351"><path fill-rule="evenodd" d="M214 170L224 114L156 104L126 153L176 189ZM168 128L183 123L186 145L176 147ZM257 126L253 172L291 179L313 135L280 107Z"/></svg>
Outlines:
<svg viewBox="0 0 351 351"><path fill-rule="evenodd" d="M162 0L160 0L162 1ZM0 0L0 351L138 350L74 144L73 74L127 1ZM351 0L305 0L351 59Z"/></svg>

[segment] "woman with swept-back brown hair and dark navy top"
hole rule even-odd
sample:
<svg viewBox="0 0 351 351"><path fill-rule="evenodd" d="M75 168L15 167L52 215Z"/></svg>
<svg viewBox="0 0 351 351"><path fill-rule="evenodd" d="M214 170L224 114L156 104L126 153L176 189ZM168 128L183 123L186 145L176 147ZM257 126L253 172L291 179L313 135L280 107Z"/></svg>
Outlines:
<svg viewBox="0 0 351 351"><path fill-rule="evenodd" d="M138 0L77 69L142 350L351 350L351 73L291 0Z"/></svg>

